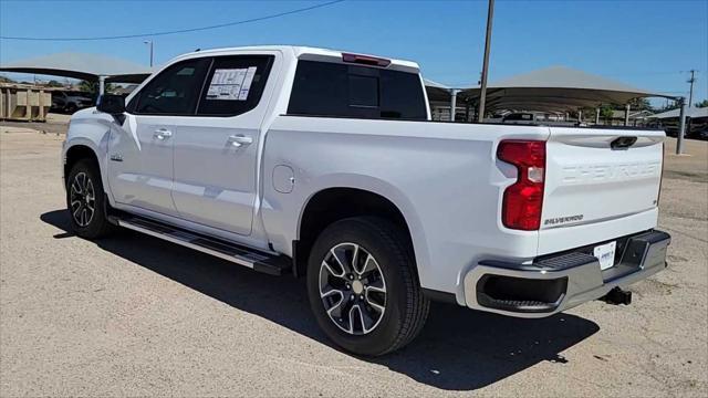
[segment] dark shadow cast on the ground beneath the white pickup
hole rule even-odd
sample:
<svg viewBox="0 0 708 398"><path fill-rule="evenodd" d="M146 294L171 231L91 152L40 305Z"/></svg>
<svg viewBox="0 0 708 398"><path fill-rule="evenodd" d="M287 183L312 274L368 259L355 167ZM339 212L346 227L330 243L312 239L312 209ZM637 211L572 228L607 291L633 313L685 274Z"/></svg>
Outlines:
<svg viewBox="0 0 708 398"><path fill-rule="evenodd" d="M65 210L43 213L40 219L64 231L55 239L73 237ZM95 243L235 308L336 349L310 314L304 281L253 272L128 230ZM518 320L434 303L426 327L414 343L382 358L358 359L446 390L473 390L541 362L563 366L566 359L561 353L597 331L595 323L570 314Z"/></svg>

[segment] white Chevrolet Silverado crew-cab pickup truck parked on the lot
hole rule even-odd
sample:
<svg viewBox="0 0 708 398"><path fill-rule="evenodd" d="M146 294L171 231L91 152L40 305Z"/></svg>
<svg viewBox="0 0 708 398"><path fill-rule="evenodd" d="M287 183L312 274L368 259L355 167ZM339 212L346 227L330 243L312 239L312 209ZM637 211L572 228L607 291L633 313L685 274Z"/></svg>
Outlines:
<svg viewBox="0 0 708 398"><path fill-rule="evenodd" d="M73 115L71 222L304 277L319 325L361 355L410 342L430 300L542 317L626 304L622 287L665 269L663 132L429 118L413 62L181 55Z"/></svg>

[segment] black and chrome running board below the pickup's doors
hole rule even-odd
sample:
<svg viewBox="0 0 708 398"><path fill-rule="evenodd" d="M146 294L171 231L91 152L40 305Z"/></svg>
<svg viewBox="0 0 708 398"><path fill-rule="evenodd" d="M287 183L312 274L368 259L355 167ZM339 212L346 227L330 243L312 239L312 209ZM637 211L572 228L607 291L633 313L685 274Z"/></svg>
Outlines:
<svg viewBox="0 0 708 398"><path fill-rule="evenodd" d="M282 275L292 270L292 261L285 255L273 255L142 217L118 218L116 221L121 227L211 254L219 259L251 268L258 272L270 275Z"/></svg>

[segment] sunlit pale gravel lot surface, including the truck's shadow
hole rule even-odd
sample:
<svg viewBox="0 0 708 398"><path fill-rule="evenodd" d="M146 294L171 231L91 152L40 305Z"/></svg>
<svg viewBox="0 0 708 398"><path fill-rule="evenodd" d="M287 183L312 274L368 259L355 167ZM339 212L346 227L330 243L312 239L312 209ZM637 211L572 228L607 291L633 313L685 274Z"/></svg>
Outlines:
<svg viewBox="0 0 708 398"><path fill-rule="evenodd" d="M72 235L63 137L42 129L0 125L2 397L708 396L707 143L666 157L670 268L631 306L523 321L436 304L413 345L372 360L325 339L301 281L128 231Z"/></svg>

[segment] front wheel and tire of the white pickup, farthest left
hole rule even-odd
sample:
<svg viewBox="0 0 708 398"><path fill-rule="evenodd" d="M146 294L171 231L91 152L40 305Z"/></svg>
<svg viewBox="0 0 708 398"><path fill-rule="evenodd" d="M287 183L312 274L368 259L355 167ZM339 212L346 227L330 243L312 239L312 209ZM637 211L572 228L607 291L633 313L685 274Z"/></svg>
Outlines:
<svg viewBox="0 0 708 398"><path fill-rule="evenodd" d="M113 232L115 226L104 211L107 205L98 166L90 159L79 160L66 177L66 208L74 233L97 239Z"/></svg>

